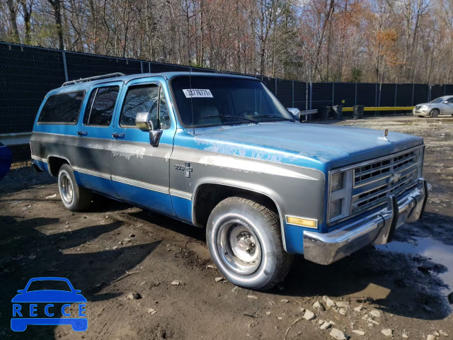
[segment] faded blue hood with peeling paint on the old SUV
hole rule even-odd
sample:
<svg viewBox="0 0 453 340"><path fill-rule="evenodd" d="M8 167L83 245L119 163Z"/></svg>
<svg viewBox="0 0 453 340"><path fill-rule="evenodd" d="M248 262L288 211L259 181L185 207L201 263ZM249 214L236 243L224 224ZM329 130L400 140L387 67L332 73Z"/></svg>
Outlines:
<svg viewBox="0 0 453 340"><path fill-rule="evenodd" d="M423 144L421 137L399 132L389 132L384 137L384 130L287 122L229 125L196 132L198 145L206 151L268 160L273 159L265 157L263 152L284 152L287 154L285 163L299 166L319 164L321 166L316 166L319 169L325 168L326 164L334 169ZM239 152L233 151L234 147ZM256 148L259 151L253 152ZM250 150L252 152L247 152Z"/></svg>

